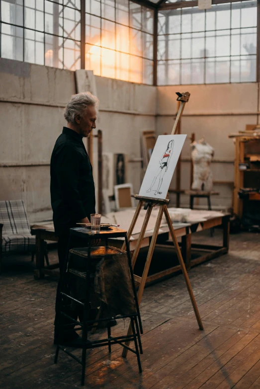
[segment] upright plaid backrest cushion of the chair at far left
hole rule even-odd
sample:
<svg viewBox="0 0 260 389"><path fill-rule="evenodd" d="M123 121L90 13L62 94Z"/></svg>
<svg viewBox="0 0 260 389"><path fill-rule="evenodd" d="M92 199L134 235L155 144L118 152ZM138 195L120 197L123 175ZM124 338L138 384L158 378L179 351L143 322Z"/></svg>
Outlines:
<svg viewBox="0 0 260 389"><path fill-rule="evenodd" d="M0 201L2 234L30 235L29 221L22 200Z"/></svg>

